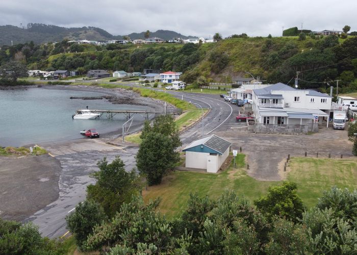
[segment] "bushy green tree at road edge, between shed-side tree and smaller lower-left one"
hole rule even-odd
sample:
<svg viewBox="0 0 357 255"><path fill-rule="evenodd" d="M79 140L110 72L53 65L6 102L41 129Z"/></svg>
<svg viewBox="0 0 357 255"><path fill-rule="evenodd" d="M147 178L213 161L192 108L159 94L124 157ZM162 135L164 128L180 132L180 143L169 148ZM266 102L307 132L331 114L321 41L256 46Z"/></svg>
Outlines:
<svg viewBox="0 0 357 255"><path fill-rule="evenodd" d="M125 165L118 156L110 164L104 158L97 165L99 171L91 174L97 182L88 185L87 199L99 203L111 218L123 202L129 202L133 195L140 193L140 177L134 170L125 171Z"/></svg>

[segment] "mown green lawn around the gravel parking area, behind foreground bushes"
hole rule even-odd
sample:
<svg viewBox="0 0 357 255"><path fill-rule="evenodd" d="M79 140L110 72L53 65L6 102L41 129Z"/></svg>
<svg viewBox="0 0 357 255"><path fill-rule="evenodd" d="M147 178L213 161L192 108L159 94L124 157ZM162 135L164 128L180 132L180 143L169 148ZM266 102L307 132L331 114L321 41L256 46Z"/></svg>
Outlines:
<svg viewBox="0 0 357 255"><path fill-rule="evenodd" d="M231 164L219 174L175 171L162 184L144 190L143 197L145 201L161 197L160 211L173 217L185 209L190 192L216 198L225 189L230 189L253 201L265 195L269 186L282 184L261 182L248 176L244 158L243 154L238 154L237 169ZM291 170L287 173L287 180L297 183L298 194L308 208L316 204L324 190L335 185L350 190L357 188L357 159L292 158L289 165Z"/></svg>

